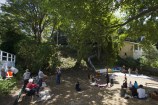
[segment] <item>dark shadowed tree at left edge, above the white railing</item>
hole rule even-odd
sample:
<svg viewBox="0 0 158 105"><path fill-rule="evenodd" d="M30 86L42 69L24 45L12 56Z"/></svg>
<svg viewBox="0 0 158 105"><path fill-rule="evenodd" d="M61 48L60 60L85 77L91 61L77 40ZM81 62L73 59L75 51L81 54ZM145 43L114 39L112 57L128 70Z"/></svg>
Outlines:
<svg viewBox="0 0 158 105"><path fill-rule="evenodd" d="M0 49L15 54L17 43L25 38L24 33L8 15L1 13L0 16Z"/></svg>

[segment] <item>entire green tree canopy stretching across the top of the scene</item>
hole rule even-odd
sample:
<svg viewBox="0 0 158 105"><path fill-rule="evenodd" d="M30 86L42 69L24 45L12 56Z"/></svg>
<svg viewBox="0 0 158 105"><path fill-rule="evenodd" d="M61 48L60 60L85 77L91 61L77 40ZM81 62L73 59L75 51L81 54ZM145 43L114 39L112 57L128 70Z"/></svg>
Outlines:
<svg viewBox="0 0 158 105"><path fill-rule="evenodd" d="M49 43L53 51L53 37L62 30L77 51L76 64L93 54L106 65L113 63L127 37L144 36L144 45L158 40L157 0L9 0L1 8L34 44Z"/></svg>

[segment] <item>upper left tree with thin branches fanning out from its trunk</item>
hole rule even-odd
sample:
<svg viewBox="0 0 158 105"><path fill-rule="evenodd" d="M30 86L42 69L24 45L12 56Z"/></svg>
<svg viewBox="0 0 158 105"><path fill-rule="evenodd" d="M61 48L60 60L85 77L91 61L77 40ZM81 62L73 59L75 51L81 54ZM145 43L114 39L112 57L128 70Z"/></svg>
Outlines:
<svg viewBox="0 0 158 105"><path fill-rule="evenodd" d="M9 0L2 5L2 11L10 15L22 31L41 43L57 25L57 13L50 6L49 0Z"/></svg>

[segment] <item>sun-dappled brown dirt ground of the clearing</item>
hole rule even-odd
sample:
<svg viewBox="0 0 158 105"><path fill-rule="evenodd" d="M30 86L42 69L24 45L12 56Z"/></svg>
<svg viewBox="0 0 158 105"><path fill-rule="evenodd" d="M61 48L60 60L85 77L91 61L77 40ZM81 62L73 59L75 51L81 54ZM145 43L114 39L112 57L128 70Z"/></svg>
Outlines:
<svg viewBox="0 0 158 105"><path fill-rule="evenodd" d="M50 100L33 103L36 98L26 97L19 105L158 105L158 101L148 98L147 100L138 100L135 98L124 99L120 97L120 87L124 76L115 77L114 86L99 88L91 86L88 80L88 71L69 70L62 71L61 84L55 84L55 75L47 80L47 85L51 94L54 94ZM101 77L104 83L104 77ZM145 86L145 83L158 83L158 79L140 78L127 76L127 80L137 81L138 84ZM76 81L80 82L81 92L75 91ZM156 87L145 87L146 91L157 89ZM12 105L10 103L3 105Z"/></svg>

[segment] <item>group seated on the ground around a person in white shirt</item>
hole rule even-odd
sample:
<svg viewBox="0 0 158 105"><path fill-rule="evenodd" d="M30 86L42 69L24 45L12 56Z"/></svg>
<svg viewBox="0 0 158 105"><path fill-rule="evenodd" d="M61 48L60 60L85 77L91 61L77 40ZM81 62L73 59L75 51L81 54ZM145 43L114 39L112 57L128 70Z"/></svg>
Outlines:
<svg viewBox="0 0 158 105"><path fill-rule="evenodd" d="M121 86L121 96L125 98L130 97L136 97L138 99L146 99L147 95L145 92L145 89L143 88L143 85L138 85L137 81L132 84L130 81L129 84L127 84L127 77L125 74L125 79L123 81L123 84Z"/></svg>

